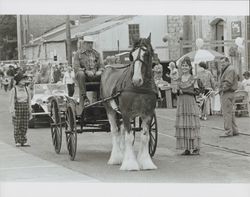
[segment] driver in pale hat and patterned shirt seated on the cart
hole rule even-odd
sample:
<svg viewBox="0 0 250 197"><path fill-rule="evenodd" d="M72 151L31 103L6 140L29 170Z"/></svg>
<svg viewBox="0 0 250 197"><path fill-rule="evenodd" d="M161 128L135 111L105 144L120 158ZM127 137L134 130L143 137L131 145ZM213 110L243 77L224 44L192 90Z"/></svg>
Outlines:
<svg viewBox="0 0 250 197"><path fill-rule="evenodd" d="M94 40L90 36L84 36L84 40L79 40L78 51L73 60L75 79L79 86L81 109L89 104L85 82L100 81L104 69L100 54L93 49L93 43Z"/></svg>

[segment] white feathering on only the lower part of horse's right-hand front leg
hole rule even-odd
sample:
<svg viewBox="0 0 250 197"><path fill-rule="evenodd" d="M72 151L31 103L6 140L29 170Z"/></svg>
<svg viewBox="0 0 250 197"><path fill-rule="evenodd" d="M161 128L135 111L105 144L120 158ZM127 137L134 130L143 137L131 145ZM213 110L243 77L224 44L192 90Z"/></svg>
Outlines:
<svg viewBox="0 0 250 197"><path fill-rule="evenodd" d="M139 167L142 170L157 169L156 165L153 163L148 152L148 141L149 141L149 136L146 135L144 132L142 132L140 148L137 156Z"/></svg>

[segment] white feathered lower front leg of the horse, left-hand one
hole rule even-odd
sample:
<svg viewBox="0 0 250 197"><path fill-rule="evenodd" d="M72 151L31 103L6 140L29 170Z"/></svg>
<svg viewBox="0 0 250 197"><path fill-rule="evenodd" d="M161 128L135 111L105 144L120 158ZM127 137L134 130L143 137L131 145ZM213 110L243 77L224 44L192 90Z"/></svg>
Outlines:
<svg viewBox="0 0 250 197"><path fill-rule="evenodd" d="M139 170L135 153L133 150L133 132L125 135L125 153L120 170Z"/></svg>

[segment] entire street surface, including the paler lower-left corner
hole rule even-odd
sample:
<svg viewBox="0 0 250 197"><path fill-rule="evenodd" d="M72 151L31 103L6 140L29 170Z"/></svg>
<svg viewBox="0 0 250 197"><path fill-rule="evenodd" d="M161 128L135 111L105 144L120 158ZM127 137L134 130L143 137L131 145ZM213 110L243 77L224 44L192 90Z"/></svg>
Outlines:
<svg viewBox="0 0 250 197"><path fill-rule="evenodd" d="M0 90L0 181L83 181L143 183L249 183L249 117L237 118L240 136L220 138L221 116L202 121L200 156L180 156L175 149L175 109L157 109L159 140L154 156L158 169L123 172L107 165L111 150L109 133L78 135L75 161L70 161L65 136L60 154L54 152L50 129L28 130L30 147L16 148L8 114L8 94ZM136 134L135 149L139 134ZM4 153L4 154L3 154ZM18 173L15 173L18 170Z"/></svg>

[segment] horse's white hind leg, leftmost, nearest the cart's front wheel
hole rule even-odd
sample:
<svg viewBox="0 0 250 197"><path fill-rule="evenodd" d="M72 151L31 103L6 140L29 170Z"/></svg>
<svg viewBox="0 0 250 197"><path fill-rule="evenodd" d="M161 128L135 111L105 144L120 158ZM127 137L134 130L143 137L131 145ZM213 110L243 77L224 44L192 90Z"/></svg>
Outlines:
<svg viewBox="0 0 250 197"><path fill-rule="evenodd" d="M120 149L120 132L116 123L116 114L114 111L108 113L108 119L110 123L111 135L112 135L112 151L108 161L110 165L119 165L123 160L123 153Z"/></svg>

